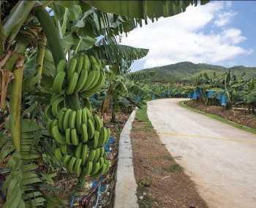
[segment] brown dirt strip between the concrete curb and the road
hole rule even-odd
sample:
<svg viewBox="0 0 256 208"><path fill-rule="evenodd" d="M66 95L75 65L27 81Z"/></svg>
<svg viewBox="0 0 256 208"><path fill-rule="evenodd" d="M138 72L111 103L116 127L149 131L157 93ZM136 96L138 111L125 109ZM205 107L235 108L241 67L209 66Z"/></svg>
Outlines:
<svg viewBox="0 0 256 208"><path fill-rule="evenodd" d="M132 123L132 152L140 207L208 207L194 182L162 144L146 114L139 109Z"/></svg>

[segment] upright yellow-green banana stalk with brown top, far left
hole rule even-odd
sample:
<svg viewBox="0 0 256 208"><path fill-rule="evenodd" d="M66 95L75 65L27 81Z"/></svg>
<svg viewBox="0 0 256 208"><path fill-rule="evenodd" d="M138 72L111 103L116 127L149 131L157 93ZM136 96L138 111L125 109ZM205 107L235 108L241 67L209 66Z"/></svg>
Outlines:
<svg viewBox="0 0 256 208"><path fill-rule="evenodd" d="M23 78L24 57L21 56L16 62L13 71L14 81L12 83L11 100L10 100L10 127L12 132L12 141L15 149L20 152L20 104L22 97L22 78Z"/></svg>

